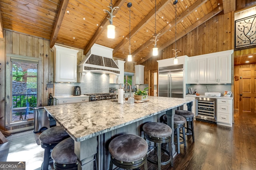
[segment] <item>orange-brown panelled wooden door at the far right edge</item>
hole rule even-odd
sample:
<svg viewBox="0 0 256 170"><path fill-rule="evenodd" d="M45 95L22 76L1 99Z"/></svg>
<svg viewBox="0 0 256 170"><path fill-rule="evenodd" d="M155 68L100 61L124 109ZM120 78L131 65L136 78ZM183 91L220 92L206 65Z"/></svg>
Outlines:
<svg viewBox="0 0 256 170"><path fill-rule="evenodd" d="M256 68L240 68L239 76L239 115L256 117Z"/></svg>

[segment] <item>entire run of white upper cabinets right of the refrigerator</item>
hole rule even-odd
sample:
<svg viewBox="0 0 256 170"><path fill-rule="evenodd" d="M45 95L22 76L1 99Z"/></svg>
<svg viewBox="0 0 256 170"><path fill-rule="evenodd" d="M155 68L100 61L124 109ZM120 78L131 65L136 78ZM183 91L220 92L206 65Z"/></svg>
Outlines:
<svg viewBox="0 0 256 170"><path fill-rule="evenodd" d="M188 84L231 83L233 53L233 50L228 50L189 57Z"/></svg>

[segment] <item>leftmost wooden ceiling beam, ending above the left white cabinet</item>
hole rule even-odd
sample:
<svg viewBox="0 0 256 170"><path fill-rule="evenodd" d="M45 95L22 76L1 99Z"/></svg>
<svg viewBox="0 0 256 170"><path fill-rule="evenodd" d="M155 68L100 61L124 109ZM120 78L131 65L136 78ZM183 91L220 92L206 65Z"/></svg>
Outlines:
<svg viewBox="0 0 256 170"><path fill-rule="evenodd" d="M57 40L58 33L60 31L60 26L61 26L61 23L63 21L64 15L65 15L65 12L66 12L67 7L68 7L68 2L69 2L69 0L60 1L60 8L58 10L58 14L57 14L57 17L56 17L56 21L54 23L54 27L53 27L52 35L51 35L51 39L50 39L50 48L52 48L54 46L54 44Z"/></svg>

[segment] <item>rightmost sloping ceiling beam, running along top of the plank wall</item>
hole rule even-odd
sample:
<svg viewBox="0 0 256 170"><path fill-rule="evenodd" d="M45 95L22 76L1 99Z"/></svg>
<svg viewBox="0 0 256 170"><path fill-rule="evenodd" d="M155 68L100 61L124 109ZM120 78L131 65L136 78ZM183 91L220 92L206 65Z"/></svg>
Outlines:
<svg viewBox="0 0 256 170"><path fill-rule="evenodd" d="M223 6L218 6L217 8L215 8L214 10L212 10L212 12L208 13L206 16L204 16L203 18L201 18L200 20L196 21L196 23L194 23L193 25L191 25L190 27L188 27L187 29L183 30L181 33L179 33L178 35L176 35L176 40L182 38L184 35L186 35L187 33L189 33L190 31L194 30L196 27L200 26L202 23L210 20L212 17L216 16L217 14L219 14L220 12L222 12L223 10ZM159 47L158 50L162 51L163 49L165 49L166 47L168 47L169 45L171 45L172 43L175 42L175 37L170 39L170 41L166 42L163 46ZM152 57L152 54L150 53L147 57L144 57L143 59L141 59L140 61L137 62L137 64L141 64L144 61L150 59Z"/></svg>

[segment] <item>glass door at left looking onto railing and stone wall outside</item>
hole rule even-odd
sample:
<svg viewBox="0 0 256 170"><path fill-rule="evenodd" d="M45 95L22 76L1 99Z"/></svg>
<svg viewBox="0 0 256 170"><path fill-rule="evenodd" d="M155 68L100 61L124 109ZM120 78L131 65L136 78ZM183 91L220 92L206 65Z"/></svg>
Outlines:
<svg viewBox="0 0 256 170"><path fill-rule="evenodd" d="M38 64L12 61L11 123L34 119L37 106Z"/></svg>

